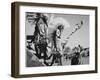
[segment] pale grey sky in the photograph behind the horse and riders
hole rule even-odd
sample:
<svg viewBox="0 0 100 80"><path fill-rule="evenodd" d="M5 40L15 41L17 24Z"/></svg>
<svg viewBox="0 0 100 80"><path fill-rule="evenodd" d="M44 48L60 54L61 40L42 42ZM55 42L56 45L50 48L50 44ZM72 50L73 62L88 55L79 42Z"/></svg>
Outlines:
<svg viewBox="0 0 100 80"><path fill-rule="evenodd" d="M27 15L28 13L26 13ZM47 14L48 19L52 16L51 14ZM65 28L62 33L62 41L68 37L69 34L75 29L75 25L77 23L80 23L80 21L83 21L83 26L81 29L79 29L77 32L75 32L70 39L68 40L68 43L66 46L69 46L71 48L78 46L79 44L83 47L89 47L89 15L76 15L76 14L53 14L53 19L55 18L63 18L66 20ZM62 21L58 21L61 22ZM56 21L53 21L53 23L56 23ZM67 27L68 26L68 27ZM51 26L49 26L50 28ZM49 29L49 32L51 32L52 29ZM34 25L32 23L29 23L26 20L25 23L25 32L26 35L32 35L34 32Z"/></svg>

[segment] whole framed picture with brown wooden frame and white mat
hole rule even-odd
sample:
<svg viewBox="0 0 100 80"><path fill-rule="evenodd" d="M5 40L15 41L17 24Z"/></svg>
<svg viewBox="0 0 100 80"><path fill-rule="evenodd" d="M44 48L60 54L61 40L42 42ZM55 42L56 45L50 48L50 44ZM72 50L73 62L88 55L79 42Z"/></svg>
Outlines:
<svg viewBox="0 0 100 80"><path fill-rule="evenodd" d="M12 4L12 76L85 73L97 73L97 7Z"/></svg>

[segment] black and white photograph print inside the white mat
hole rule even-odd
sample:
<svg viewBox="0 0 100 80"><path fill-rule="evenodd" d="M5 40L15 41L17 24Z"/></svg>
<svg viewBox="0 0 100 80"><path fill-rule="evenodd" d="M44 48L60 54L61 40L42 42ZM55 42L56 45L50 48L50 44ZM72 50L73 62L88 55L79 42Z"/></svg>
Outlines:
<svg viewBox="0 0 100 80"><path fill-rule="evenodd" d="M26 67L89 65L89 17L26 12Z"/></svg>

